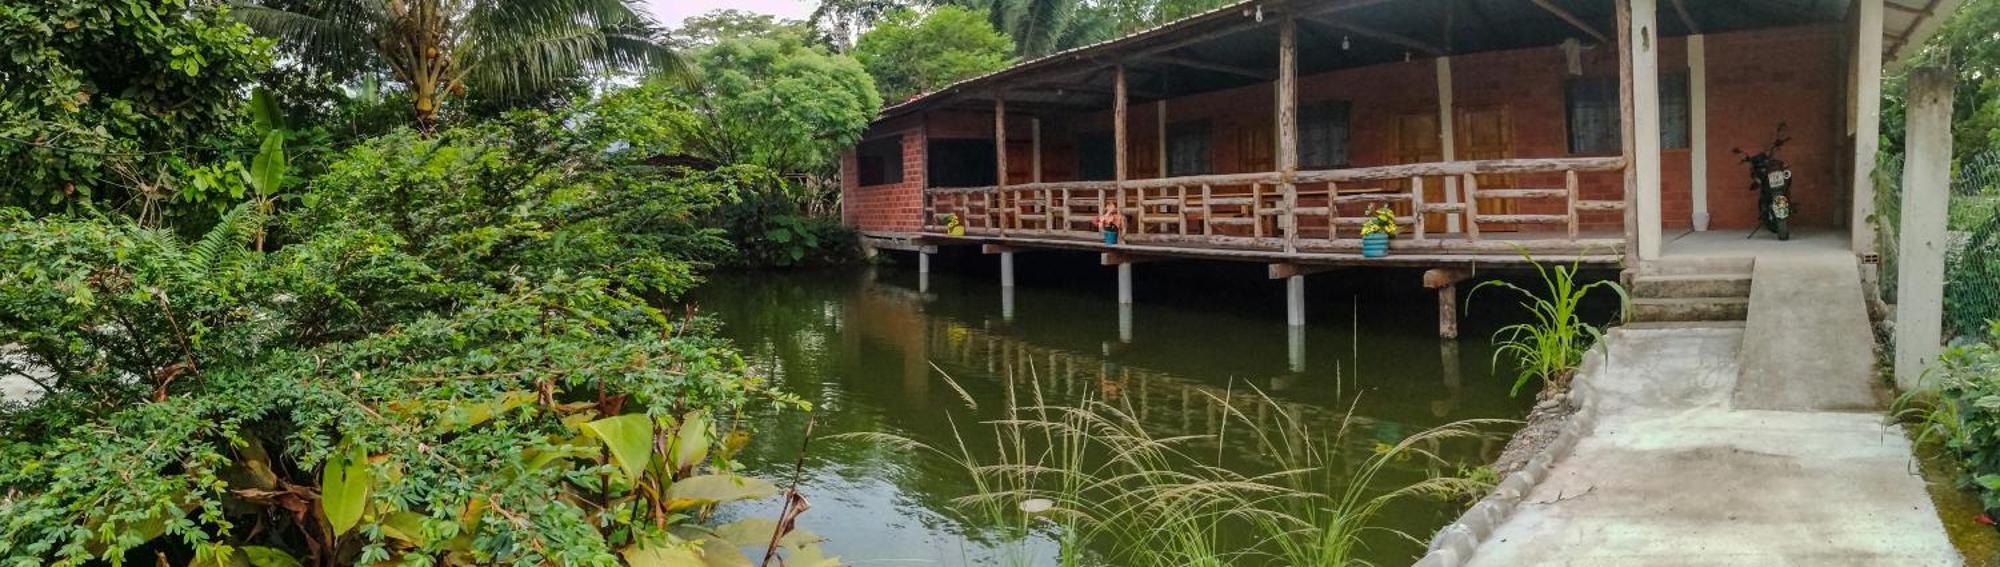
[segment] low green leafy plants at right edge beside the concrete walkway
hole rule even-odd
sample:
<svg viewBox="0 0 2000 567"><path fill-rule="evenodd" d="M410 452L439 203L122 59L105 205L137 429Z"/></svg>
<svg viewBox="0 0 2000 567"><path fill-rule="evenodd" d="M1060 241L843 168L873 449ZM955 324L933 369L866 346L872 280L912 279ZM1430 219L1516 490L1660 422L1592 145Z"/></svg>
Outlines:
<svg viewBox="0 0 2000 567"><path fill-rule="evenodd" d="M1924 379L1928 389L1898 397L1896 413L1914 421L1918 443L1940 443L1958 461L1960 489L2000 511L2000 321L1984 341L1948 347Z"/></svg>

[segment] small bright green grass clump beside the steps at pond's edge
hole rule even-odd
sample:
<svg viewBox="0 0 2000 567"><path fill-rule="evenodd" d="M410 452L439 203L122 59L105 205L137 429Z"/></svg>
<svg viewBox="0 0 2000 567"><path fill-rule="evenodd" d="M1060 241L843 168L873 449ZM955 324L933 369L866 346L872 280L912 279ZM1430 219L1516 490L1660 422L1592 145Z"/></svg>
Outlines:
<svg viewBox="0 0 2000 567"><path fill-rule="evenodd" d="M1512 355L1518 373L1514 375L1514 389L1508 395L1520 395L1520 387L1532 379L1542 381L1542 395L1562 393L1570 385L1570 375L1576 367L1584 363L1584 353L1590 345L1604 339L1604 329L1586 323L1578 313L1584 297L1590 297L1596 289L1608 289L1618 295L1620 317L1632 311L1632 295L1626 293L1624 285L1610 280L1598 280L1590 284L1580 284L1578 264L1554 268L1536 262L1532 256L1522 252L1528 264L1534 266L1536 276L1542 280L1540 291L1528 291L1526 287L1514 285L1502 280L1480 282L1472 287L1476 297L1480 289L1498 287L1510 289L1522 297L1520 305L1534 315L1532 321L1514 323L1494 331L1494 367L1500 365L1502 357ZM1466 299L1470 307L1472 299Z"/></svg>

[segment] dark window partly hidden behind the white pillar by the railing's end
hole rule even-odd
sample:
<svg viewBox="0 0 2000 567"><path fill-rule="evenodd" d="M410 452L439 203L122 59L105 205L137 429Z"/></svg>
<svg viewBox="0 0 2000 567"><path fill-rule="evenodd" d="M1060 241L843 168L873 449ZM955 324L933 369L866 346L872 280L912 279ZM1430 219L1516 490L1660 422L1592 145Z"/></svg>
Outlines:
<svg viewBox="0 0 2000 567"><path fill-rule="evenodd" d="M1618 78L1578 78L1564 88L1570 154L1622 152ZM1688 76L1660 76L1660 148L1688 148Z"/></svg>

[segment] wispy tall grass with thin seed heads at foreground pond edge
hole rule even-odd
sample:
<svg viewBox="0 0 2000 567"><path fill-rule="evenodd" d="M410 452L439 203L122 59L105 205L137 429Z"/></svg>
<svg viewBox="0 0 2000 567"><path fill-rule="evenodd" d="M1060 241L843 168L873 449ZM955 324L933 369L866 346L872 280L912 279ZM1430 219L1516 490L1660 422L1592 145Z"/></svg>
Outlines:
<svg viewBox="0 0 2000 567"><path fill-rule="evenodd" d="M1352 407L1340 423L1316 427L1258 391L1258 407L1204 393L1224 413L1216 431L1156 435L1128 403L1048 403L1034 379L1026 403L1016 403L1008 383L1002 415L980 423L994 433L990 451L970 447L958 421L956 447L848 435L930 451L964 469L972 493L956 503L1004 529L1008 565L1038 563L1022 543L1032 533L1058 543L1058 565L1366 565L1358 551L1378 537L1416 541L1374 525L1388 503L1484 489L1436 475L1446 469L1436 447L1500 423L1460 421L1372 445L1350 437ZM1268 461L1232 467L1222 447ZM1392 465L1428 465L1432 475L1384 489Z"/></svg>

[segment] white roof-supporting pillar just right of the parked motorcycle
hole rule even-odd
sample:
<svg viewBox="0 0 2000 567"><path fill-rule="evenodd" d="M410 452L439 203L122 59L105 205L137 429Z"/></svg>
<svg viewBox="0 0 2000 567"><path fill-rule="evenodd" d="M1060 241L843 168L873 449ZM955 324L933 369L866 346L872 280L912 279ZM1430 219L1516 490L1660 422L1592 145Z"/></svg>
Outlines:
<svg viewBox="0 0 2000 567"><path fill-rule="evenodd" d="M1874 168L1882 150L1882 0L1860 0L1854 12L1854 196L1848 228L1854 254L1876 252ZM1936 16L1934 20L1942 20ZM1906 216L1908 218L1908 216ZM1872 293L1872 291L1870 291Z"/></svg>

